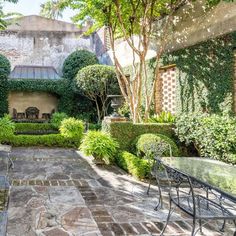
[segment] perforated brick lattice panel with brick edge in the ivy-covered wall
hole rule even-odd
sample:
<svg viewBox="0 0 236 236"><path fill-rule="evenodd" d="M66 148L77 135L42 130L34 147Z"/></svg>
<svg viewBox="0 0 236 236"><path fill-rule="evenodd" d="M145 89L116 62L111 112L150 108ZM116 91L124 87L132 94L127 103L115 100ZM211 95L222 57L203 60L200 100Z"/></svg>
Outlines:
<svg viewBox="0 0 236 236"><path fill-rule="evenodd" d="M155 110L176 113L176 67L162 69L155 91Z"/></svg>

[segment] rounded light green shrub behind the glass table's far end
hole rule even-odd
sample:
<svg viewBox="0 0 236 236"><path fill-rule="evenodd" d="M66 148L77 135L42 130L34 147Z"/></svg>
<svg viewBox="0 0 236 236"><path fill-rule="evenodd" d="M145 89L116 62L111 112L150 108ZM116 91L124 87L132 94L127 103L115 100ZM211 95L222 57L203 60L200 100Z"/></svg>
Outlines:
<svg viewBox="0 0 236 236"><path fill-rule="evenodd" d="M179 156L175 142L162 134L142 134L135 140L135 149L139 156Z"/></svg>

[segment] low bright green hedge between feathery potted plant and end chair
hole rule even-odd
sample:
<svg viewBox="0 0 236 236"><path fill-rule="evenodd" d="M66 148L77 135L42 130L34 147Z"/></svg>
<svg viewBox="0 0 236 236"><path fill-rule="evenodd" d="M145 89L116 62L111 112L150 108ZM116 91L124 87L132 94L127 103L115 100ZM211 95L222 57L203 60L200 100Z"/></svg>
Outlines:
<svg viewBox="0 0 236 236"><path fill-rule="evenodd" d="M121 152L116 157L117 165L138 179L149 176L150 165L147 160L141 159L129 152Z"/></svg>

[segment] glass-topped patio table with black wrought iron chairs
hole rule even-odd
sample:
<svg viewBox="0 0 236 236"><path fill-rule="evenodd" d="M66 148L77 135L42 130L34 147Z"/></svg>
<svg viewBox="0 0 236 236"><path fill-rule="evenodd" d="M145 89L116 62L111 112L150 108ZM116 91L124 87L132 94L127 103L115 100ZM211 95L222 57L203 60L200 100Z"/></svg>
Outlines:
<svg viewBox="0 0 236 236"><path fill-rule="evenodd" d="M159 154L164 151L164 146L160 145ZM156 178L159 190L155 210L163 207L162 189L167 188L169 192L169 213L161 235L175 208L192 217L191 236L202 232L202 227L210 220L222 220L221 232L228 220L236 228L236 167L206 158L159 155L154 158L151 175ZM150 184L147 194L149 191Z"/></svg>

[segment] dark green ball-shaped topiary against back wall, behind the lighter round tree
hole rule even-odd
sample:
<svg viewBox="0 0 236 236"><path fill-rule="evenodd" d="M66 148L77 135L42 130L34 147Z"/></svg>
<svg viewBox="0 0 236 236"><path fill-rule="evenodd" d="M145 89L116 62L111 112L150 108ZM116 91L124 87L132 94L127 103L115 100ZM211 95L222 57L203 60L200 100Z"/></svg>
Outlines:
<svg viewBox="0 0 236 236"><path fill-rule="evenodd" d="M98 64L96 55L87 50L77 50L71 53L64 61L62 73L66 79L74 79L82 68L88 65Z"/></svg>

